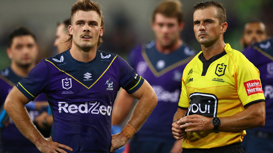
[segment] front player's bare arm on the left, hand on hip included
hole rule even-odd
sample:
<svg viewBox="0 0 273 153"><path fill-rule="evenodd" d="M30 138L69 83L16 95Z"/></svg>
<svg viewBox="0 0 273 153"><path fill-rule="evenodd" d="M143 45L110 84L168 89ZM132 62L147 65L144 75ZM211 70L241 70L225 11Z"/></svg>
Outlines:
<svg viewBox="0 0 273 153"><path fill-rule="evenodd" d="M4 109L15 123L20 132L29 139L41 152L58 151L65 152L61 148L71 150L69 146L52 141L51 138L44 138L34 126L30 119L25 104L30 100L23 95L16 87L13 87L5 101Z"/></svg>

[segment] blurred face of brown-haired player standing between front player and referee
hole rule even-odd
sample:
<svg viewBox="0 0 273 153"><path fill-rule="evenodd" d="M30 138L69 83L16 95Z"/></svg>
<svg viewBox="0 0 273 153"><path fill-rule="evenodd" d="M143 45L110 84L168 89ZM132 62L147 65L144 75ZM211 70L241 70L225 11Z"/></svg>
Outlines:
<svg viewBox="0 0 273 153"><path fill-rule="evenodd" d="M166 17L157 13L152 22L152 29L156 35L156 41L162 47L172 46L175 41L180 39L184 23L179 23L176 17Z"/></svg>

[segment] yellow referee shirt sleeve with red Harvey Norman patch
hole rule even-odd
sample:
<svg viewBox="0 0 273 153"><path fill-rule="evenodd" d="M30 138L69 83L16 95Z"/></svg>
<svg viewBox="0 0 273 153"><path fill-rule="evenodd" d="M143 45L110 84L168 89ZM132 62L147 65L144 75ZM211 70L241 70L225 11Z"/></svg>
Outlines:
<svg viewBox="0 0 273 153"><path fill-rule="evenodd" d="M237 66L237 92L244 107L265 101L259 70L247 59Z"/></svg>

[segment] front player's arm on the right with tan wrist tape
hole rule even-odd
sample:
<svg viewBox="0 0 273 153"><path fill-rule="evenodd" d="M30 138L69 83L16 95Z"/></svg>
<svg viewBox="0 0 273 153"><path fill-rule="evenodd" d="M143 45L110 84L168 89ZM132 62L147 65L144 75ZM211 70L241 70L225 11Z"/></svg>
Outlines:
<svg viewBox="0 0 273 153"><path fill-rule="evenodd" d="M153 111L154 107L156 107L156 93L146 80L144 80L142 86L131 95L136 99L139 99L139 101L134 108L131 118L129 119L125 128L123 128L121 133L112 135L112 146L110 152L113 152L117 148L125 145L126 142L138 131L138 129L140 129L142 124Z"/></svg>

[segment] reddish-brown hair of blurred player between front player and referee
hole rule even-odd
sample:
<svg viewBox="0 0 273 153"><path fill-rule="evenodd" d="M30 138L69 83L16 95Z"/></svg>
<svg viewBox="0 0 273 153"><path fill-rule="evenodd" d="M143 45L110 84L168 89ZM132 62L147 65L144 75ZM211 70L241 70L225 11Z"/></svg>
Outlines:
<svg viewBox="0 0 273 153"><path fill-rule="evenodd" d="M183 22L183 11L181 7L182 3L178 0L161 1L153 12L152 22L154 22L157 13L169 18L175 17L179 23Z"/></svg>

